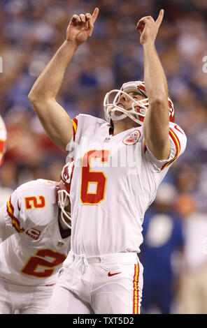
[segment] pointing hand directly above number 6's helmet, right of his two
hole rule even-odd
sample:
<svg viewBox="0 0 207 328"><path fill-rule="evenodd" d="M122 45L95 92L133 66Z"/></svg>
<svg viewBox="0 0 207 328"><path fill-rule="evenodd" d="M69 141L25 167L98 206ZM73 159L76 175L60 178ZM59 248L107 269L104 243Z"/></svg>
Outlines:
<svg viewBox="0 0 207 328"><path fill-rule="evenodd" d="M162 23L163 16L164 10L162 9L159 11L159 16L157 17L157 20L153 20L152 16L145 16L138 21L138 23L136 24L136 30L138 30L141 34L141 45L145 43L155 43L155 38Z"/></svg>

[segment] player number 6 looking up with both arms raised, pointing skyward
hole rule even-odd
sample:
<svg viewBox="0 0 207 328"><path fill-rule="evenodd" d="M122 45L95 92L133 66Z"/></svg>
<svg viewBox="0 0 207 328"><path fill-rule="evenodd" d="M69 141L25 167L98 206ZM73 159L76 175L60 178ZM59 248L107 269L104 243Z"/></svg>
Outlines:
<svg viewBox="0 0 207 328"><path fill-rule="evenodd" d="M164 10L156 21L151 16L138 21L144 82L127 82L106 94L106 120L87 114L71 120L57 103L66 66L92 35L98 13L95 8L92 15L73 15L66 40L29 94L50 138L62 149L73 143L75 161L71 251L50 313L140 313L143 267L137 253L143 216L186 144L185 133L173 123L173 103L155 50Z"/></svg>

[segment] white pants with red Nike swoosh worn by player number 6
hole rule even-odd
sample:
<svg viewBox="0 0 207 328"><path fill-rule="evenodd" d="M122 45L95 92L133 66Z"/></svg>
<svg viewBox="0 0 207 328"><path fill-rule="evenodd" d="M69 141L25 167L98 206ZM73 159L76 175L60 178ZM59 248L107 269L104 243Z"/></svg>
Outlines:
<svg viewBox="0 0 207 328"><path fill-rule="evenodd" d="M71 252L50 299L53 314L138 314L143 266L136 253L85 258Z"/></svg>

